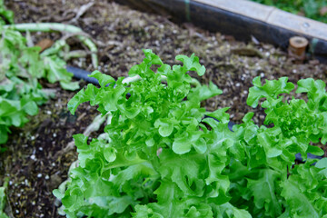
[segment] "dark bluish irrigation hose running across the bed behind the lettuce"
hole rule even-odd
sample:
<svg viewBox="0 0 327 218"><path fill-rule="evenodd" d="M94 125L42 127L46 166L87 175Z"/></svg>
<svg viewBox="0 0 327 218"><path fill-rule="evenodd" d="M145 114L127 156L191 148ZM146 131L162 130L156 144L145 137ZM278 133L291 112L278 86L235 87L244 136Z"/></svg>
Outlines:
<svg viewBox="0 0 327 218"><path fill-rule="evenodd" d="M67 66L66 67L67 71L69 73L72 73L74 74L74 77L76 79L83 79L84 81L88 82L88 83L91 83L91 84L97 84L99 85L99 82L97 81L97 79L93 78L93 77L88 77L89 74L91 74L90 72L88 71L85 71L81 68L77 68L77 67L74 67L74 66ZM205 116L205 117L208 117L208 118L213 118L211 116ZM218 121L217 119L213 118L215 121ZM233 125L234 123L233 122L230 122L228 124L228 128L233 132ZM314 155L314 154L310 154L308 153L308 158L310 159L322 159L322 156L317 156L317 155ZM301 154L295 154L295 160L298 161L298 162L301 162L303 163L303 159L302 159L302 156Z"/></svg>

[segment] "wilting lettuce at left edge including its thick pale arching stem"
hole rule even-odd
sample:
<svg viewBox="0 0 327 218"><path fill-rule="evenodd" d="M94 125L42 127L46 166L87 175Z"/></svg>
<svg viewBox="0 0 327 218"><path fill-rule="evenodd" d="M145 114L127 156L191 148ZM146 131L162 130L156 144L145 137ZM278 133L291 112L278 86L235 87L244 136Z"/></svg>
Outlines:
<svg viewBox="0 0 327 218"><path fill-rule="evenodd" d="M45 90L39 80L59 83L63 89L75 90L78 82L72 82L73 74L65 69L66 61L83 53L70 51L64 39L40 54L40 47L33 44L20 32L69 32L74 33L92 52L92 63L97 67L97 48L83 31L73 25L56 23L14 24L14 13L7 10L0 0L0 144L5 144L10 127L21 127L29 115L38 113L38 106L44 104L51 90ZM0 147L0 152L4 151Z"/></svg>

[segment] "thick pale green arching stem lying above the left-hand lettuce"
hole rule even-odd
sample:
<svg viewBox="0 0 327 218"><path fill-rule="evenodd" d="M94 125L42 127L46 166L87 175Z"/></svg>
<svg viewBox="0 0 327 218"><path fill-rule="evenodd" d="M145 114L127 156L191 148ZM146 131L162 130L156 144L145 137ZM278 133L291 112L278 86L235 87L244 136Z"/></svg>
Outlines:
<svg viewBox="0 0 327 218"><path fill-rule="evenodd" d="M18 24L18 25L4 25L5 28L12 28L20 32L30 31L30 32L64 32L75 34L81 42L86 45L91 51L92 64L94 68L98 66L97 59L97 48L94 45L94 42L88 37L85 36L85 33L82 29L74 26L74 25L64 25L57 23L43 23L43 24Z"/></svg>

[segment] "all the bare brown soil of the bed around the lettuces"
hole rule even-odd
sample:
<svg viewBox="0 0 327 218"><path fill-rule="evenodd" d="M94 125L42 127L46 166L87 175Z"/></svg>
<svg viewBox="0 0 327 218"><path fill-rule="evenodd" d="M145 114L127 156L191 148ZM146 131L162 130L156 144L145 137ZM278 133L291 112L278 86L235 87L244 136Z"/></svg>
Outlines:
<svg viewBox="0 0 327 218"><path fill-rule="evenodd" d="M237 42L233 37L209 33L190 24L173 24L160 15L148 15L122 5L98 0L84 15L74 21L82 5L89 1L26 0L7 1L15 11L15 23L60 22L80 26L91 35L99 47L99 70L115 78L127 75L128 69L142 61L143 48L151 48L163 62L175 64L177 54L195 53L207 68L203 83L213 81L223 94L206 102L208 110L230 106L233 122L240 123L248 111L255 111L254 120L263 123L263 110L246 105L246 97L255 76L277 79L289 76L296 83L301 78L326 80L327 67L318 61L296 64L280 49L272 45ZM34 42L59 34L35 34ZM74 49L84 49L77 40L70 39ZM250 54L244 53L249 52ZM70 62L93 71L89 57ZM83 133L97 114L87 104L75 115L68 113L66 104L74 93L56 87L56 98L40 108L23 129L13 130L1 154L1 169L10 179L8 197L15 217L60 217L54 205L52 190L67 178L70 163L76 159L74 151L57 155L73 134Z"/></svg>

